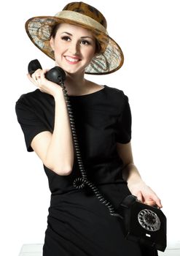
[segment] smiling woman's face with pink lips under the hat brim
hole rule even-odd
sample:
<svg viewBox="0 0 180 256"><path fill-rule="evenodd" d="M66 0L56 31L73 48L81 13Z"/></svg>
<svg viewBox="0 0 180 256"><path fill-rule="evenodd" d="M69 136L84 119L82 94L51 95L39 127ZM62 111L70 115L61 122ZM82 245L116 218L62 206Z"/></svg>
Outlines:
<svg viewBox="0 0 180 256"><path fill-rule="evenodd" d="M84 72L95 55L95 38L91 31L67 23L60 24L50 45L55 52L56 65L71 74Z"/></svg>

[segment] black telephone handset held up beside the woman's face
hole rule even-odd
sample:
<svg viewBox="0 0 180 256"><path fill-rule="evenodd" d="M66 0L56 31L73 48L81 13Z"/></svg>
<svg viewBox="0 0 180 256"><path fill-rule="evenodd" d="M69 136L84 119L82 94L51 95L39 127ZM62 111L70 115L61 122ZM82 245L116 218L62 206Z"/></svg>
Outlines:
<svg viewBox="0 0 180 256"><path fill-rule="evenodd" d="M34 59L28 64L28 73L32 75L37 69L42 69L42 65L37 59ZM66 73L60 67L52 67L46 74L45 78L53 83L63 83L66 79Z"/></svg>

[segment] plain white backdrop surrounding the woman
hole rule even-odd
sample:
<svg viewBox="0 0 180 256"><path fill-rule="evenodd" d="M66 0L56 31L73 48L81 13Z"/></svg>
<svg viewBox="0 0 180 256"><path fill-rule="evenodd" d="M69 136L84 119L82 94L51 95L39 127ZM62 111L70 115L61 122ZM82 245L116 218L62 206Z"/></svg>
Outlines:
<svg viewBox="0 0 180 256"><path fill-rule="evenodd" d="M122 89L133 115L133 155L147 184L163 202L168 241L179 238L179 1L86 1L101 10L125 64L111 75L88 76ZM51 4L53 3L53 4ZM18 255L22 244L43 243L50 192L42 163L26 151L15 102L34 86L28 62L54 63L28 39L24 23L55 15L68 1L5 1L1 6L1 255ZM110 3L110 4L109 4ZM1 3L2 4L2 3Z"/></svg>

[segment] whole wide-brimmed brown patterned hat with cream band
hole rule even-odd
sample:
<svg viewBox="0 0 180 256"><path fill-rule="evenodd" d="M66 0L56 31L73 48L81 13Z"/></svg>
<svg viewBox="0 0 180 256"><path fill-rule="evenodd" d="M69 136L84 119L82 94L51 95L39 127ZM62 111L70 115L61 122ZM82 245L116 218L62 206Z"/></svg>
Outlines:
<svg viewBox="0 0 180 256"><path fill-rule="evenodd" d="M52 28L58 23L69 23L90 29L101 45L100 52L86 67L86 74L109 74L122 67L124 61L122 50L117 42L109 37L106 31L106 19L97 9L81 1L72 2L55 16L37 16L26 21L28 37L37 48L54 60L54 52L50 47L50 36Z"/></svg>

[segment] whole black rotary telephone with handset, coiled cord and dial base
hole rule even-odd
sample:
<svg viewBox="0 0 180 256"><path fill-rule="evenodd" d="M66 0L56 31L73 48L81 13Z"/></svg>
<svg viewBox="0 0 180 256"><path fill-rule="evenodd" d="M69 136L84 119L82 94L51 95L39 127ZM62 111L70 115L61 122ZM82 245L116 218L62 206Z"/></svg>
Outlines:
<svg viewBox="0 0 180 256"><path fill-rule="evenodd" d="M29 74L32 75L36 69L42 69L42 66L37 59L34 59L28 64ZM87 174L85 172L79 150L71 102L69 100L66 87L64 86L66 73L63 71L63 69L56 66L45 74L45 78L53 83L57 83L63 89L63 95L69 113L74 149L77 154L79 170L82 173L82 177L75 178L73 182L74 187L77 189L82 189L86 185L89 186L95 193L95 196L98 197L98 200L100 200L100 202L109 209L110 215L119 217L123 220L125 237L127 239L138 241L141 244L154 247L155 249L164 252L166 248L166 217L163 214L163 211L157 207L147 206L144 203L138 202L137 197L133 195L128 195L125 197L125 199L120 203L119 207L115 209L109 200L106 200L103 195L101 195L101 192L98 191L95 184L87 180Z"/></svg>

